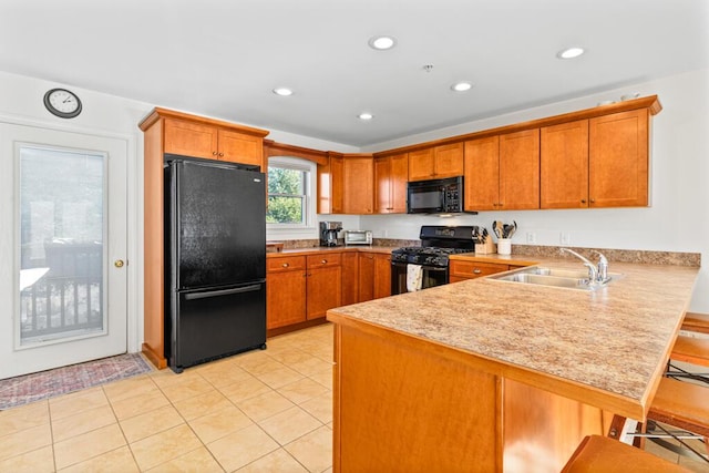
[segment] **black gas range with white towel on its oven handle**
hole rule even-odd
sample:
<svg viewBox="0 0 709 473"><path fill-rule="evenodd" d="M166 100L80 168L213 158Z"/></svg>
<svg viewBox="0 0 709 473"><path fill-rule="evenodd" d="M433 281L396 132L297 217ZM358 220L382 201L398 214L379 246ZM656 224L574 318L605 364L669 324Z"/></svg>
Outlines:
<svg viewBox="0 0 709 473"><path fill-rule="evenodd" d="M407 246L391 251L391 294L448 284L449 256L474 251L479 232L477 226L422 226L419 234L421 246ZM412 276L418 276L420 280L414 287Z"/></svg>

